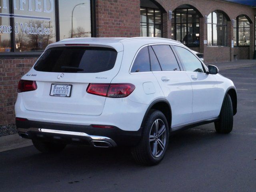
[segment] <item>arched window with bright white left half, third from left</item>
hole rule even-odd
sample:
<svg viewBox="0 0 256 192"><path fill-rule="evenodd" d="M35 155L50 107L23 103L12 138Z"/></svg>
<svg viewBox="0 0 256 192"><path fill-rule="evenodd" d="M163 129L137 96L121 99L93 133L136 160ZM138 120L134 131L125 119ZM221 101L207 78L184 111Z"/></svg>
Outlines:
<svg viewBox="0 0 256 192"><path fill-rule="evenodd" d="M227 46L227 18L222 11L216 10L207 17L207 45Z"/></svg>

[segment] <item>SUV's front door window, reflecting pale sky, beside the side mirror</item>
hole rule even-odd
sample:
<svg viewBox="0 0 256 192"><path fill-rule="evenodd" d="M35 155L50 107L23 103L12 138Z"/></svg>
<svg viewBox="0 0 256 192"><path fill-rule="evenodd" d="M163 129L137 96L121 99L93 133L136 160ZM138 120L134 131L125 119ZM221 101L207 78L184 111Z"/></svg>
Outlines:
<svg viewBox="0 0 256 192"><path fill-rule="evenodd" d="M184 70L190 72L204 72L202 63L189 50L180 46L175 46L175 49L180 56L182 65L185 68Z"/></svg>

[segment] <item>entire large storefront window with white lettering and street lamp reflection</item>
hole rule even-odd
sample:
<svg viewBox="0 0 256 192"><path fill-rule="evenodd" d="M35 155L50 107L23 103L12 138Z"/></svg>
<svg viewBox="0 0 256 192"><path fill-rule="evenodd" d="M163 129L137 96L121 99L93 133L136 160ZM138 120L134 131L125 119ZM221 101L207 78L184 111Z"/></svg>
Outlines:
<svg viewBox="0 0 256 192"><path fill-rule="evenodd" d="M0 54L95 34L94 0L1 0Z"/></svg>

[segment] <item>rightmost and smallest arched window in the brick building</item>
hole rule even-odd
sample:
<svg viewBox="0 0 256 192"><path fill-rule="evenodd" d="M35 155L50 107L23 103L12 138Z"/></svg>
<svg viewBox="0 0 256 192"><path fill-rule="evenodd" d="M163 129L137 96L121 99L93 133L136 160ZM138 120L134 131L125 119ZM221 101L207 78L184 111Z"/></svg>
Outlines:
<svg viewBox="0 0 256 192"><path fill-rule="evenodd" d="M244 15L234 21L234 46L250 45L250 22Z"/></svg>

